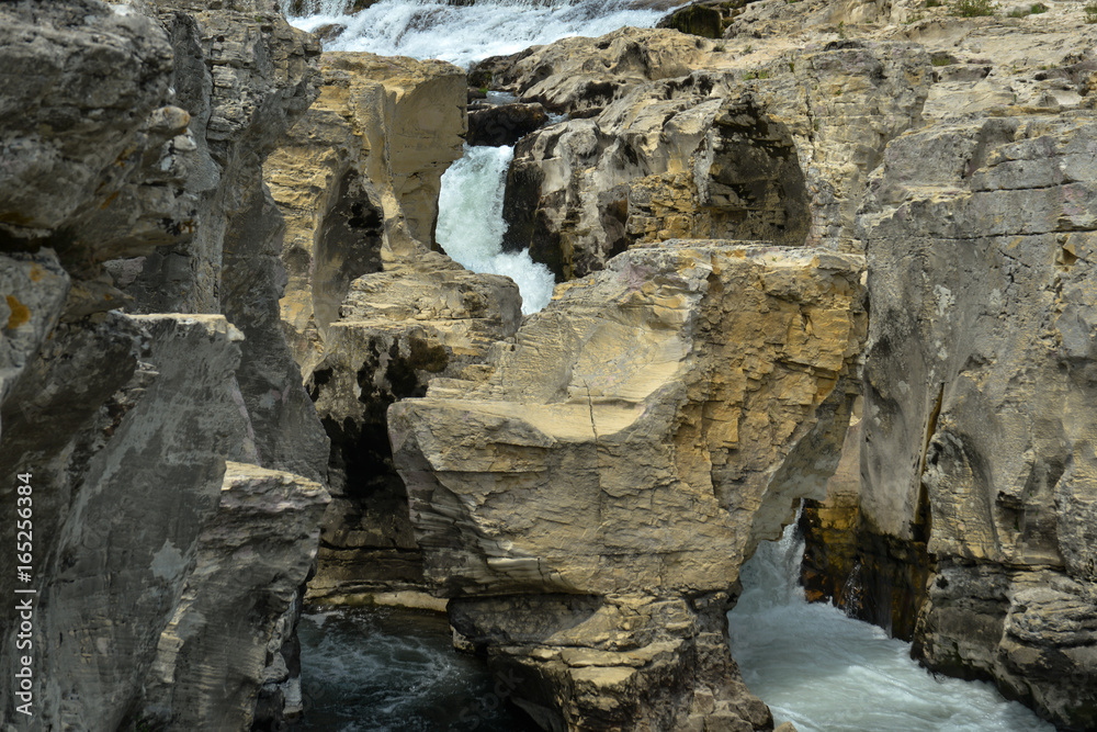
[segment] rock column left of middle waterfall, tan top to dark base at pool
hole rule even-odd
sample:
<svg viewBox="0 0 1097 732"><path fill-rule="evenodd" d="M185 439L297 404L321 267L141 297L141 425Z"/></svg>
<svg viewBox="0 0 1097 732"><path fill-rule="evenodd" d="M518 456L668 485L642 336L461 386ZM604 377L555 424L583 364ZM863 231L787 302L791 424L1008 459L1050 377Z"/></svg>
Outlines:
<svg viewBox="0 0 1097 732"><path fill-rule="evenodd" d="M464 72L340 53L321 70L319 99L264 176L289 221L283 322L331 439L333 500L310 596L376 600L425 589L385 413L431 378L482 376L521 300L506 278L430 251L440 179L462 154Z"/></svg>

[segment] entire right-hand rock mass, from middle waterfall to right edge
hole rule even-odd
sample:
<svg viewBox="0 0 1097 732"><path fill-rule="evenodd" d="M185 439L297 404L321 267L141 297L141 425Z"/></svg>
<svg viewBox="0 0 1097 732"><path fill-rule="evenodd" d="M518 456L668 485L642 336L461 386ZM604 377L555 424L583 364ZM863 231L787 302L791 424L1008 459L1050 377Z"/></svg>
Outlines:
<svg viewBox="0 0 1097 732"><path fill-rule="evenodd" d="M1028 10L757 2L717 43L623 30L477 72L573 117L507 193L510 246L561 281L672 237L867 255L863 421L805 516L810 589L1085 729L1097 30Z"/></svg>

